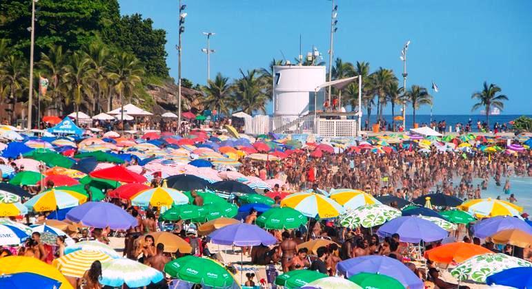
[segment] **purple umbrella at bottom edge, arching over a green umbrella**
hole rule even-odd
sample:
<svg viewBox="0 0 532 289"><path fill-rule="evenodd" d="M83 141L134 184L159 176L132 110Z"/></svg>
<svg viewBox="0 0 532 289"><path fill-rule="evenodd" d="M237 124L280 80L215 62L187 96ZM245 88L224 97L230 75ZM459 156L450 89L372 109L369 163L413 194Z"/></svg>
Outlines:
<svg viewBox="0 0 532 289"><path fill-rule="evenodd" d="M361 272L386 275L410 289L423 289L424 283L401 261L390 257L369 255L347 259L336 265L338 272L348 278Z"/></svg>

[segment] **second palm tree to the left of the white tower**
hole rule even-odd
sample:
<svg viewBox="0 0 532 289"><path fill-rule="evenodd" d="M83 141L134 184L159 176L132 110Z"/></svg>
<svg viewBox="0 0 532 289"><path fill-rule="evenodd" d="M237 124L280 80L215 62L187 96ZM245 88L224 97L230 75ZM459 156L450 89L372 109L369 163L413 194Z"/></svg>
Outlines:
<svg viewBox="0 0 532 289"><path fill-rule="evenodd" d="M214 80L208 81L208 86L201 87L205 93L204 105L210 109L218 109L219 114L229 114L231 89L229 78L218 72Z"/></svg>

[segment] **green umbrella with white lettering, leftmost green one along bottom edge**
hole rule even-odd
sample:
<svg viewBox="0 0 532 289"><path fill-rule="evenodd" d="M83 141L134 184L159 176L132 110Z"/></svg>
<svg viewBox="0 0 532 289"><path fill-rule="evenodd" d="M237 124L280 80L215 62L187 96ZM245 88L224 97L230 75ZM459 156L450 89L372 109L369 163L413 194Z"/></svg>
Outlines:
<svg viewBox="0 0 532 289"><path fill-rule="evenodd" d="M164 266L168 275L190 283L212 288L238 287L235 277L217 261L208 258L185 256Z"/></svg>

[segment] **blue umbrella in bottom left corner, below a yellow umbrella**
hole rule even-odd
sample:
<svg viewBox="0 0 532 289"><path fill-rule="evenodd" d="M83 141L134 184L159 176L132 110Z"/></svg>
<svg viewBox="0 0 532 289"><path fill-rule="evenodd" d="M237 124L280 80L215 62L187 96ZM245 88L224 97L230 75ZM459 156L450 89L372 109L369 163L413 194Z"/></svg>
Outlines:
<svg viewBox="0 0 532 289"><path fill-rule="evenodd" d="M41 289L55 289L61 286L61 282L30 272L0 275L0 288L34 289L35 286Z"/></svg>

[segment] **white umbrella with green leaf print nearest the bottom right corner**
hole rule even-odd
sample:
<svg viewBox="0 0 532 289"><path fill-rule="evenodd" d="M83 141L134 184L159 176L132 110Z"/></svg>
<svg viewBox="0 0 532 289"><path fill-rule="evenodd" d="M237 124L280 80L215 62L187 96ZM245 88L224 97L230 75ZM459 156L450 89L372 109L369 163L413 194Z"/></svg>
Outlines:
<svg viewBox="0 0 532 289"><path fill-rule="evenodd" d="M484 254L471 257L451 270L451 275L460 281L473 280L485 283L486 277L515 267L532 267L532 263L505 254Z"/></svg>

